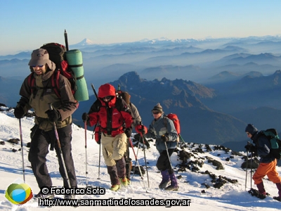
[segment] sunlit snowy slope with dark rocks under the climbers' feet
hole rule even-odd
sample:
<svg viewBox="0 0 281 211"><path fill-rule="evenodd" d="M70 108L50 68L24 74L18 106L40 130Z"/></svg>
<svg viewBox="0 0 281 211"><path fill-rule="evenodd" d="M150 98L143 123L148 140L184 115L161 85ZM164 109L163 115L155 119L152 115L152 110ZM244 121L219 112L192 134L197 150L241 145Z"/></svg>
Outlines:
<svg viewBox="0 0 281 211"><path fill-rule="evenodd" d="M23 139L23 152L24 152L24 163L25 163L25 180L26 183L32 188L33 193L38 193L39 188L37 186L37 181L34 178L32 170L30 169L30 162L27 159L29 148L27 143L30 142L30 128L32 127L33 117L25 117L22 119L22 139ZM233 155L231 151L222 150L217 146L209 146L211 151L207 151L207 146L204 144L188 143L187 148L184 149L187 153L190 153L190 158L187 160L200 160L203 164L192 165L192 167L197 167L197 171L192 172L191 167L181 167L183 163L179 160L177 153L171 156L171 162L176 171L176 177L180 186L179 191L167 192L159 190L158 184L162 177L157 170L156 161L159 153L157 152L154 142L150 142L150 148L145 150L146 160L148 162L148 175L150 181L150 187L148 188L148 177L145 172L144 181L147 187L143 185L143 180L139 175L135 174L132 179L132 184L126 188L122 187L119 191L110 191L110 178L107 174L107 169L103 157L101 155L100 162L100 179L98 178L98 158L99 158L99 146L92 139L93 132L87 131L87 142L86 151L87 158L85 156L85 139L83 128L77 125L72 126L73 129L73 139L72 139L72 155L74 158L74 165L76 168L77 181L79 188L86 187L86 159L87 159L87 170L88 170L88 186L99 186L101 188L106 188L105 195L81 195L77 196L77 199L108 199L108 198L133 198L133 199L191 199L190 207L173 207L177 210L279 210L280 202L273 200L268 197L264 200L252 197L247 191L250 188L250 172L247 173L247 191L245 191L245 175L246 172L241 168L242 159L241 155ZM0 145L0 210L39 210L38 202L30 200L25 205L17 206L11 205L5 198L6 188L13 183L16 179L22 179L22 155L21 151L18 151L20 143L12 144L9 143L9 139L19 139L19 124L18 120L13 116L13 109L10 111L0 112L0 141L4 141L4 145ZM183 137L184 138L184 137ZM133 137L132 137L133 139ZM1 142L0 142L1 143ZM197 149L201 148L202 153ZM15 149L13 153L12 149ZM138 152L138 162L140 165L145 165L143 158L142 148L134 148L134 151ZM178 153L182 151L178 148ZM246 155L244 152L240 152L242 155ZM130 148L130 157L132 158L133 165L135 164L135 158L133 156L133 151ZM221 162L223 165L223 170L216 170L208 159L214 159ZM51 174L53 180L53 186L62 186L63 181L60 178L60 173L58 172L58 162L54 151L50 151L47 155L48 159L48 170ZM228 161L227 161L228 160ZM177 166L177 167L176 167ZM202 167L200 167L202 166ZM281 173L281 168L277 167L279 173ZM218 176L226 177L228 179L237 180L237 183L230 183L227 181L221 188L214 188L214 181L208 174L202 174L202 172L210 172L216 175L216 180ZM267 178L267 177L266 177ZM270 196L277 196L277 188L275 184L268 181L268 179L263 180L266 191L270 193ZM209 186L209 188L207 188ZM254 182L252 182L254 186ZM79 207L83 210L93 210L93 207ZM155 207L98 207L98 210L155 210ZM164 208L164 207L163 207ZM74 207L51 207L48 210L74 210ZM162 208L161 208L162 209Z"/></svg>

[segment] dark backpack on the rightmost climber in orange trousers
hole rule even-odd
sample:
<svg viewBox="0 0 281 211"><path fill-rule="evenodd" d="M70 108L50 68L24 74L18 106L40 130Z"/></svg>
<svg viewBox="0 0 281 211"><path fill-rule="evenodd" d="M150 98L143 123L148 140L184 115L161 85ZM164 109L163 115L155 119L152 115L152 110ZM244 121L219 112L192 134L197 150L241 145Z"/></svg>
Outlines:
<svg viewBox="0 0 281 211"><path fill-rule="evenodd" d="M277 134L276 129L270 128L266 130L261 130L261 134L264 134L270 143L270 154L274 158L280 160L281 158L281 140Z"/></svg>

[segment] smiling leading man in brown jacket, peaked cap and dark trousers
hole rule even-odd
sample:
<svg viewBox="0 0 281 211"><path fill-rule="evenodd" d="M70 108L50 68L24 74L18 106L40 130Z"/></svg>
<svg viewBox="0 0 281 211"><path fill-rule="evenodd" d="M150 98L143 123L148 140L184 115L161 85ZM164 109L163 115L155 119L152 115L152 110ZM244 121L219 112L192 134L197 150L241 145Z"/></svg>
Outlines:
<svg viewBox="0 0 281 211"><path fill-rule="evenodd" d="M77 110L78 102L74 99L69 80L63 75L59 75L60 96L55 94L52 87L52 75L55 74L55 63L49 59L48 51L45 49L36 49L32 52L30 59L30 70L34 77L34 87L30 86L30 77L26 77L20 88L20 101L15 108L15 117L18 119L24 117L27 111L32 108L35 113L34 127L31 135L30 152L28 160L31 162L32 171L39 188L44 186L53 186L48 168L46 165L46 156L48 146L55 148L58 155L59 171L63 177L63 186L68 187L67 176L71 187L77 187L77 178L72 158L72 114ZM49 110L49 104L52 103L53 110ZM56 140L53 128L55 122L60 148L63 152L63 159L60 155L60 149ZM64 160L64 163L63 163ZM65 174L64 167L67 170ZM47 197L41 193L36 197ZM49 194L48 197L53 197ZM65 195L65 198L74 198Z"/></svg>

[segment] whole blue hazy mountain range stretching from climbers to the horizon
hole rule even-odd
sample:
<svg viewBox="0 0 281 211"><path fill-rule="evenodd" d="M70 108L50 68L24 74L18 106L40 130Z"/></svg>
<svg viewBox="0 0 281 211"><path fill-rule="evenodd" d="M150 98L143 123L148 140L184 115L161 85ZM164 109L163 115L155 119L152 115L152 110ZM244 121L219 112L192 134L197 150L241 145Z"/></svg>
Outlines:
<svg viewBox="0 0 281 211"><path fill-rule="evenodd" d="M155 39L97 45L84 39L70 49L83 53L84 75L98 91L110 82L129 91L143 123L161 103L165 113L177 113L186 141L244 147L244 127L279 126L281 37L224 39ZM0 56L0 103L15 106L31 52ZM8 89L7 89L8 87ZM81 102L81 113L95 100ZM237 142L243 141L237 146ZM233 146L231 146L233 148ZM235 148L234 148L235 149Z"/></svg>

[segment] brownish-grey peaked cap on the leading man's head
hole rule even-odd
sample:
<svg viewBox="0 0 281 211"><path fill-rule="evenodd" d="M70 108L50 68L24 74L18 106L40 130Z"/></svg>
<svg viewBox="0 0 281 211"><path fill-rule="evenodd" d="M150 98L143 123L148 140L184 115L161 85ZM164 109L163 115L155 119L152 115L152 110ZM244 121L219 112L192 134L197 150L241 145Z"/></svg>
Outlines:
<svg viewBox="0 0 281 211"><path fill-rule="evenodd" d="M50 69L53 68L53 63L48 57L48 51L45 49L36 49L31 54L31 59L28 65L45 65L47 64Z"/></svg>

